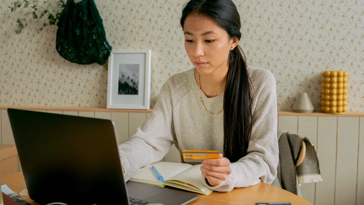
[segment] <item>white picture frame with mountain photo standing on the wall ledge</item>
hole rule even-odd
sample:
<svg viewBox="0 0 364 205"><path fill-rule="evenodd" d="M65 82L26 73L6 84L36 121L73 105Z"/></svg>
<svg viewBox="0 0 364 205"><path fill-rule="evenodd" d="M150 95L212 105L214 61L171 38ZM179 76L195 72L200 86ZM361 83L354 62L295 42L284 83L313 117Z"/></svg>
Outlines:
<svg viewBox="0 0 364 205"><path fill-rule="evenodd" d="M151 50L112 50L107 109L150 109Z"/></svg>

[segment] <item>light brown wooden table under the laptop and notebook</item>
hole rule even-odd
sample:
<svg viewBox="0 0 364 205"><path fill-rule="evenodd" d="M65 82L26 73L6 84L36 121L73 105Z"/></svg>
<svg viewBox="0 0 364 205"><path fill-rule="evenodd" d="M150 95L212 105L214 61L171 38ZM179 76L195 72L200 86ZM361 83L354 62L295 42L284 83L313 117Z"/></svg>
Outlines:
<svg viewBox="0 0 364 205"><path fill-rule="evenodd" d="M0 177L0 182L1 185L6 184L17 194L19 194L20 190L26 188L23 173L21 172L3 175ZM38 205L29 197L21 197L32 205ZM312 205L297 195L266 183L259 183L246 188L236 188L231 192L212 192L207 196L198 194L198 199L189 205L255 205L256 202L291 202L292 205Z"/></svg>

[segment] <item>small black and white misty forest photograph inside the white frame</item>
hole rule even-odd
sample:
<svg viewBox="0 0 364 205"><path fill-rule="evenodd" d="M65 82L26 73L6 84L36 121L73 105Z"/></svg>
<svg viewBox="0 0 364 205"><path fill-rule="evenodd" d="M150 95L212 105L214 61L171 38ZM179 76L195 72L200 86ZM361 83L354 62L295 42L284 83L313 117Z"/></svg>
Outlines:
<svg viewBox="0 0 364 205"><path fill-rule="evenodd" d="M139 84L139 64L119 65L119 95L137 95Z"/></svg>

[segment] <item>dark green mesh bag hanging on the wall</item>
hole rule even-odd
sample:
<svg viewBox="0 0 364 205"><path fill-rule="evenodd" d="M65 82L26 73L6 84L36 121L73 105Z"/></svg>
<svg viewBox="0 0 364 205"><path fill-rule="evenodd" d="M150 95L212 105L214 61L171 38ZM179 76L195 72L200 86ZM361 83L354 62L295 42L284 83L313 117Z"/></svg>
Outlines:
<svg viewBox="0 0 364 205"><path fill-rule="evenodd" d="M64 59L103 65L110 56L111 46L94 0L67 0L57 26L56 49Z"/></svg>

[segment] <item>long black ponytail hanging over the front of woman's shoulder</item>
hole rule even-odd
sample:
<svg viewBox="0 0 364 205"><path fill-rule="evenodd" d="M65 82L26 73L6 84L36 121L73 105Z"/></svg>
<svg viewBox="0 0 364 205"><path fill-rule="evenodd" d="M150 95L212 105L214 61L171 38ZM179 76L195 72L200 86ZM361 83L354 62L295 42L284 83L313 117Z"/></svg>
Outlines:
<svg viewBox="0 0 364 205"><path fill-rule="evenodd" d="M252 106L245 55L240 46L229 53L224 95L224 156L236 162L247 154L252 133Z"/></svg>

